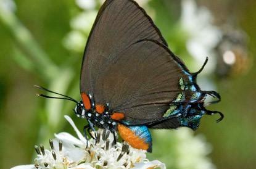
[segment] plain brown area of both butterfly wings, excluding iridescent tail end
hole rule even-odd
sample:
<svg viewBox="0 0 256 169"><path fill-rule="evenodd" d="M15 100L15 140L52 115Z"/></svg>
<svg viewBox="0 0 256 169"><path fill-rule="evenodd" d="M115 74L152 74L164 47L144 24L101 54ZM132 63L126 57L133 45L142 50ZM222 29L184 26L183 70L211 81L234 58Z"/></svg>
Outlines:
<svg viewBox="0 0 256 169"><path fill-rule="evenodd" d="M97 104L108 103L113 112L124 113L126 125L154 124L175 119L165 113L170 102L186 92L179 81L191 81L189 76L136 2L105 1L86 44L81 93L91 94ZM190 97L189 92L182 96ZM177 120L168 120L170 128L176 128Z"/></svg>

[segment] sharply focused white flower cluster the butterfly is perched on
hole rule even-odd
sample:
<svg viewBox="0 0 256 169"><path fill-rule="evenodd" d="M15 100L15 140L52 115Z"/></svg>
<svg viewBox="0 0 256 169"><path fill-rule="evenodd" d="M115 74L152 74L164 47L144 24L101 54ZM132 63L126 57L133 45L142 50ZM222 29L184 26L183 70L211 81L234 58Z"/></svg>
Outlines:
<svg viewBox="0 0 256 169"><path fill-rule="evenodd" d="M69 133L55 134L56 138L49 141L49 150L43 144L35 146L35 165L20 165L11 169L166 168L157 160L147 160L145 150L134 149L125 142L114 145L114 136L108 130L98 130L96 139L86 140L72 119L65 118L79 139Z"/></svg>

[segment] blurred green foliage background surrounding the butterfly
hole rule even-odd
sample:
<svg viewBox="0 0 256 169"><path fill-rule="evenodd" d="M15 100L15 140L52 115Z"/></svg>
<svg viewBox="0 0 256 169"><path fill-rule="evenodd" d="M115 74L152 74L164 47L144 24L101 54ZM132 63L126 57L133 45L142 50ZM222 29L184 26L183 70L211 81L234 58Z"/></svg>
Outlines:
<svg viewBox="0 0 256 169"><path fill-rule="evenodd" d="M0 0L0 168L33 163L35 144L47 142L60 131L73 133L64 121L64 114L72 115L82 129L84 121L73 115L75 105L72 102L36 97L35 94L41 91L33 88L33 85L42 85L80 99L81 48L86 43L89 30L72 27L72 20L81 12L92 15L91 20L94 20L99 4L97 1L93 9L81 9L75 1L23 0L12 4L12 1ZM225 119L215 123L217 116L202 118L195 135L208 142L204 144L212 152L207 158L216 168L255 168L256 1L201 0L197 4L212 12L212 23L220 30L228 23L232 28L244 31L242 35L247 39L247 47L244 47L244 43L238 43L246 54L238 54L235 64L231 65L223 64L221 57L214 55L218 64L214 70L202 75L202 80L208 81L222 97L220 104L211 105L209 109L225 113ZM181 1L151 0L143 6L154 17L170 48L182 57L191 72L196 72L201 64L186 49L188 37L180 26ZM80 35L84 36L72 41L68 37L73 30L79 30ZM225 29L229 30L232 29ZM74 43L78 43L75 46L77 49L72 47ZM216 52L218 49L214 50ZM202 60L205 58L200 57ZM184 139L190 142L190 139L186 136L178 139L175 135L178 132L154 132L154 150L149 158L162 160L167 163L167 168L182 168L177 167L176 160L171 159L180 158L183 160L181 163L186 163L185 157L177 157L174 152L180 142ZM191 135L191 139L193 137ZM183 149L184 154L191 153L184 146ZM197 150L200 151L200 146L197 146Z"/></svg>

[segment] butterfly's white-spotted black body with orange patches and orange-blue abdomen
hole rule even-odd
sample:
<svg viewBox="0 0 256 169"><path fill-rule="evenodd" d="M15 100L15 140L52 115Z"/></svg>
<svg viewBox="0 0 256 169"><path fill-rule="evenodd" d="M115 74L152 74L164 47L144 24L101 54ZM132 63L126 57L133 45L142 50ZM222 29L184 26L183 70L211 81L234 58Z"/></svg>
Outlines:
<svg viewBox="0 0 256 169"><path fill-rule="evenodd" d="M94 130L94 126L97 126L110 130L114 134L114 141L115 133L119 131L122 138L129 142L131 146L148 152L152 151L152 138L147 126L123 125L122 120L125 117L123 113L113 112L109 109L109 104L94 104L94 99L90 96L82 94L83 100L78 102L74 109L77 117L88 120L89 129Z"/></svg>

